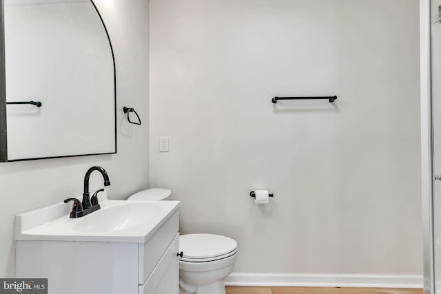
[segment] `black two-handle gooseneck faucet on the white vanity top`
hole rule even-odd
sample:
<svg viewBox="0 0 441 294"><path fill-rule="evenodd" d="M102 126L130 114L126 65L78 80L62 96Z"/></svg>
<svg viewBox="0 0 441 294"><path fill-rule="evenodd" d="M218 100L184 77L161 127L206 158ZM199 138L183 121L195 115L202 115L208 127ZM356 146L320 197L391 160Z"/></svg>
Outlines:
<svg viewBox="0 0 441 294"><path fill-rule="evenodd" d="M110 186L109 176L107 176L107 172L102 167L91 167L86 171L84 176L84 193L83 193L83 202L76 198L68 198L64 200L65 203L69 201L74 201L74 207L72 208L72 212L70 213L70 218L81 218L81 216L86 216L91 212L94 212L100 209L100 205L98 203L98 193L104 191L104 189L99 189L92 196L92 202L90 202L90 194L89 194L89 178L92 171L99 171L104 178L104 185Z"/></svg>

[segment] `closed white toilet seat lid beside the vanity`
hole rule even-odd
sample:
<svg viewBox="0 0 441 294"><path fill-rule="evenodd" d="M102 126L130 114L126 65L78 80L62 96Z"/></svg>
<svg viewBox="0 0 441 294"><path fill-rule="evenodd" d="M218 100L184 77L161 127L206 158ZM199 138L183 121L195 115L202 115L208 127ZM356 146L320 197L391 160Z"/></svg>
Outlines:
<svg viewBox="0 0 441 294"><path fill-rule="evenodd" d="M186 260L216 258L236 249L236 241L223 235L188 234L179 237L179 251Z"/></svg>

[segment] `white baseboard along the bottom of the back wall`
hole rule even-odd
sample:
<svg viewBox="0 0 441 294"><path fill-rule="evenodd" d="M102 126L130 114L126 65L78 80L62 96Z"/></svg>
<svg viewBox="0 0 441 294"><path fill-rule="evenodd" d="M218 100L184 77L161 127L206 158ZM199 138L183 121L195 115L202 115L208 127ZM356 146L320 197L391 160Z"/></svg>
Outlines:
<svg viewBox="0 0 441 294"><path fill-rule="evenodd" d="M227 286L422 288L422 275L232 273Z"/></svg>

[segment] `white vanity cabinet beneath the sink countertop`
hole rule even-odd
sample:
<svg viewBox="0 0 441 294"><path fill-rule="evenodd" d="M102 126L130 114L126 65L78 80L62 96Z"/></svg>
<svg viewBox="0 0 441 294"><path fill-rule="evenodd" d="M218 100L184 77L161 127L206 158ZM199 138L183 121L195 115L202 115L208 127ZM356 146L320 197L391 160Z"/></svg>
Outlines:
<svg viewBox="0 0 441 294"><path fill-rule="evenodd" d="M49 294L178 294L178 209L145 242L17 240L16 277Z"/></svg>

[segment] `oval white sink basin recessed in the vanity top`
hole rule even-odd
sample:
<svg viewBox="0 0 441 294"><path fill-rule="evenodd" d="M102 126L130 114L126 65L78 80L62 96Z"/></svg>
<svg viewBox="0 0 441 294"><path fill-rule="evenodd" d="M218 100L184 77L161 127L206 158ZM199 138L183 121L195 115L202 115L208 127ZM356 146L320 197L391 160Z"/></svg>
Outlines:
<svg viewBox="0 0 441 294"><path fill-rule="evenodd" d="M125 203L95 211L72 227L73 231L100 233L130 229L153 220L161 213L154 203Z"/></svg>

